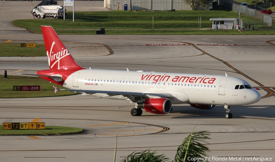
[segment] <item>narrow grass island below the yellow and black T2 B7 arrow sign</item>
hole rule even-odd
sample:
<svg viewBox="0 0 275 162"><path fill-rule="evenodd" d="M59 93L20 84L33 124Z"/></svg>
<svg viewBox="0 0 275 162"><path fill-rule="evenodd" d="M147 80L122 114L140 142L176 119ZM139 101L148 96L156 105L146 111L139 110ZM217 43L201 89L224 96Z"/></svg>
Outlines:
<svg viewBox="0 0 275 162"><path fill-rule="evenodd" d="M0 125L0 136L61 135L75 134L83 129L73 127L45 126L45 129L3 129Z"/></svg>

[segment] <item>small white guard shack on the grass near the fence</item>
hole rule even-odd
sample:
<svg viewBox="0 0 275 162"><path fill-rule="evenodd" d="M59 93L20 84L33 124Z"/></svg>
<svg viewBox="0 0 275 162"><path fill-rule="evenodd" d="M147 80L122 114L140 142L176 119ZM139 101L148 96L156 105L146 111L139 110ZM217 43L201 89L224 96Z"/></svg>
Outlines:
<svg viewBox="0 0 275 162"><path fill-rule="evenodd" d="M212 29L233 29L236 26L235 18L210 18L210 21L212 21Z"/></svg>

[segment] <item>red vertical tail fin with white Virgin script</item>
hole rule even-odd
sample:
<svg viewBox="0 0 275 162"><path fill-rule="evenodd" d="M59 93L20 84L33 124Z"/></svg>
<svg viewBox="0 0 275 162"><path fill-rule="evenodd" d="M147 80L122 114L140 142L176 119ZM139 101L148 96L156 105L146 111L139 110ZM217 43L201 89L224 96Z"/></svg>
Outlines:
<svg viewBox="0 0 275 162"><path fill-rule="evenodd" d="M41 26L50 69L81 70L51 26Z"/></svg>

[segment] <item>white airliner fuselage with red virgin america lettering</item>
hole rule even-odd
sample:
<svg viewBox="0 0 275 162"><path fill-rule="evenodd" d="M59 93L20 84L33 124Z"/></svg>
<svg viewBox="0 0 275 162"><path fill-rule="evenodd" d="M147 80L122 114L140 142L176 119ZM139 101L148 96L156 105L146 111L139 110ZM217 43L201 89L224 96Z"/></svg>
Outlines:
<svg viewBox="0 0 275 162"><path fill-rule="evenodd" d="M172 104L248 105L259 101L261 96L255 89L235 89L237 85L251 87L230 76L84 69L68 76L63 86L77 90L165 93L173 96ZM108 93L91 95L133 100Z"/></svg>

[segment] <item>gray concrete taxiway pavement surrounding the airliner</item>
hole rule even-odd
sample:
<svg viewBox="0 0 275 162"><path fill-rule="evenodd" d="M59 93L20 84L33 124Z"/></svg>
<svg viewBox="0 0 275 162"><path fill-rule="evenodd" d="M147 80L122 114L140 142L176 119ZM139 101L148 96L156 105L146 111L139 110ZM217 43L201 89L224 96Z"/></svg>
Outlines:
<svg viewBox="0 0 275 162"><path fill-rule="evenodd" d="M86 1L85 1L86 2ZM102 1L101 1L102 2ZM101 3L97 2L97 3ZM35 2L0 1L31 7ZM84 4L84 1L82 2ZM27 5L26 5L27 4ZM88 4L88 2L87 2ZM86 7L89 8L85 3ZM89 1L93 4L93 1ZM16 8L17 9L17 8ZM29 10L29 9L28 9ZM42 35L11 25L2 16L0 40L43 43ZM29 15L28 15L29 14ZM29 11L24 19L33 18ZM4 19L2 19L4 18ZM41 24L43 25L43 24ZM237 32L237 31L236 31ZM207 157L275 158L275 41L265 36L111 36L60 35L76 62L92 69L146 70L234 76L257 88L262 99L230 109L223 106L200 110L188 104L174 105L173 112L143 112L133 117L134 103L92 96L0 99L0 123L31 122L41 118L47 125L84 129L75 135L0 136L0 161L112 161L116 136L116 161L134 151L156 150L173 160L178 146L193 128L207 131L211 152ZM0 74L33 73L48 69L45 57L1 57ZM7 94L9 95L9 94ZM1 131L1 130L0 130ZM245 161L245 160L244 160Z"/></svg>

